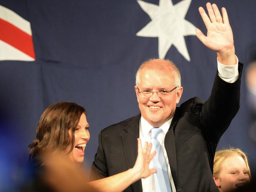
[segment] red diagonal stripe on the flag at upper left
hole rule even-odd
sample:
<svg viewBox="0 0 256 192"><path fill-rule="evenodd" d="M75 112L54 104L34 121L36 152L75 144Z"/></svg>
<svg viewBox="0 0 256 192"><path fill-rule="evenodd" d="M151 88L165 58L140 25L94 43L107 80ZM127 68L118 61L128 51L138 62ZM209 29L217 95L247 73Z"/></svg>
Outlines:
<svg viewBox="0 0 256 192"><path fill-rule="evenodd" d="M35 59L32 36L1 18L0 39Z"/></svg>

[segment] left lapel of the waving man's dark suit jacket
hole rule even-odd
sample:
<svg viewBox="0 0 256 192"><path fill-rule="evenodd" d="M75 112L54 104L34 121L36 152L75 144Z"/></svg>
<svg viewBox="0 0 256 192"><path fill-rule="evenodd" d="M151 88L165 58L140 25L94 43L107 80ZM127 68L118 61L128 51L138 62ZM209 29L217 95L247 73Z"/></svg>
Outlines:
<svg viewBox="0 0 256 192"><path fill-rule="evenodd" d="M139 120L141 114L135 116L131 122L124 127L126 133L122 135L122 143L124 148L124 156L126 159L127 168L130 169L134 166L137 158L137 138L139 138ZM142 192L141 179L132 184L135 192Z"/></svg>

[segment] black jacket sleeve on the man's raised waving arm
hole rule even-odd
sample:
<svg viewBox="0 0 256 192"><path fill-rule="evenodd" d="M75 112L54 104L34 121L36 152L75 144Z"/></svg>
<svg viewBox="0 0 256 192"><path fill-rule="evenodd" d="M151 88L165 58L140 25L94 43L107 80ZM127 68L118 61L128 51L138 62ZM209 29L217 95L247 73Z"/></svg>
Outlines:
<svg viewBox="0 0 256 192"><path fill-rule="evenodd" d="M202 132L208 141L216 145L240 106L243 64L239 63L238 65L239 78L234 83L227 83L216 75L211 95L202 105L200 111L199 119Z"/></svg>

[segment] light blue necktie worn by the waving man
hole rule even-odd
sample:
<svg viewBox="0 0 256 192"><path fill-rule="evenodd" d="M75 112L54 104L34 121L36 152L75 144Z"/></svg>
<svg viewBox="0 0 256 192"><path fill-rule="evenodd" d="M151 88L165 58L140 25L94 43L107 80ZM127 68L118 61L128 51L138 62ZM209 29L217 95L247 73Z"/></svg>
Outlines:
<svg viewBox="0 0 256 192"><path fill-rule="evenodd" d="M153 150L155 147L156 155L153 158L153 166L157 170L154 174L155 180L155 191L156 192L172 192L171 183L169 180L169 175L167 171L167 166L165 162L165 157L163 155L163 150L161 148L160 142L157 139L159 133L162 132L160 128L151 129L151 142L153 145Z"/></svg>

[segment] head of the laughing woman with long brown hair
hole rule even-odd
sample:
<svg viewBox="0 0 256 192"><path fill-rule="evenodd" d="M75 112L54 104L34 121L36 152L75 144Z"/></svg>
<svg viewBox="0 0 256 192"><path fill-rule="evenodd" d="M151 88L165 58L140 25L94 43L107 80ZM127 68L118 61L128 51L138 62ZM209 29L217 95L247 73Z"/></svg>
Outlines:
<svg viewBox="0 0 256 192"><path fill-rule="evenodd" d="M59 151L66 152L71 161L83 162L84 149L90 139L88 128L85 109L80 105L71 102L50 105L41 115L37 136L29 145L30 161L40 161L40 153L44 151ZM82 144L78 143L80 140Z"/></svg>

